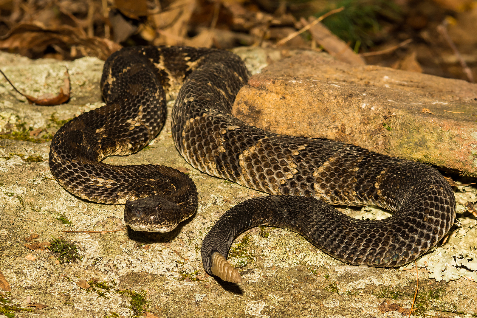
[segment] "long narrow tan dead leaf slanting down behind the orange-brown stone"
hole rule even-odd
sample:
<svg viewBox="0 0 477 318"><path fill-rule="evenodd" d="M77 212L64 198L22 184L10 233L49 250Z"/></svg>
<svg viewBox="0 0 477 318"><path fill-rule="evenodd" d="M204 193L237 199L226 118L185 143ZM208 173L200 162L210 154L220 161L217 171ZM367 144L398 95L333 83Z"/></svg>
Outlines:
<svg viewBox="0 0 477 318"><path fill-rule="evenodd" d="M304 18L300 21L303 25L313 22L315 19L310 18L307 22ZM318 22L310 28L311 36L317 41L330 55L335 59L352 65L366 65L363 58L356 54L345 41L334 35L324 24Z"/></svg>

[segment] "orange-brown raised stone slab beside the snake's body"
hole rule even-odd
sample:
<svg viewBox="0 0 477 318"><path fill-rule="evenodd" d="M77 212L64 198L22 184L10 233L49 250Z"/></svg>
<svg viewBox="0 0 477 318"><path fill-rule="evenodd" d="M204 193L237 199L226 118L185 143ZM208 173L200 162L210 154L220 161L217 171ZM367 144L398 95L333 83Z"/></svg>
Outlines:
<svg viewBox="0 0 477 318"><path fill-rule="evenodd" d="M477 84L462 80L301 54L254 75L233 114L477 176Z"/></svg>

